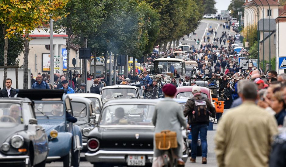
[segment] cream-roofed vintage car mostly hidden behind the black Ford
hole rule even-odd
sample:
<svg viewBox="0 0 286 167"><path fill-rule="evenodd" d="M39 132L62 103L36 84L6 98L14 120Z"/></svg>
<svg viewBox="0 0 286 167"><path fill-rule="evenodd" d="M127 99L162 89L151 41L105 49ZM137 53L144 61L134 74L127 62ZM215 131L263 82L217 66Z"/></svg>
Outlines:
<svg viewBox="0 0 286 167"><path fill-rule="evenodd" d="M111 99L144 98L143 96L140 96L138 89L139 89L138 87L132 85L113 85L113 86L103 87L101 89L100 95L103 103Z"/></svg>

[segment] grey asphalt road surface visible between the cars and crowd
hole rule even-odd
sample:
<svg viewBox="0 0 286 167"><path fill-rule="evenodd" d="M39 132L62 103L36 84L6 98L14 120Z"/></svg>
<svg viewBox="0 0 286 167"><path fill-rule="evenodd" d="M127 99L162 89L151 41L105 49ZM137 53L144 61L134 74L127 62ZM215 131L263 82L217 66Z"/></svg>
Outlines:
<svg viewBox="0 0 286 167"><path fill-rule="evenodd" d="M235 32L229 31L229 30L224 30L223 27L220 27L220 24L223 23L223 21L218 21L214 19L203 19L201 21L201 24L199 25L198 29L195 31L197 35L192 35L191 39L203 39L203 36L207 37L208 33L208 28L211 26L214 30L217 30L217 36L221 36L223 31L226 31L227 34L234 35ZM213 40L213 36L211 35L211 41ZM220 46L220 45L219 45ZM196 48L199 47L199 45L195 46ZM227 112L227 111L225 111ZM214 144L214 137L215 137L215 130L217 128L217 124L214 125L214 130L213 131L208 131L207 135L207 141L208 141L208 157L207 157L207 164L201 164L202 157L197 157L196 163L191 163L190 160L188 159L186 163L186 167L216 167L217 162L216 162L216 157L215 157L215 144ZM46 164L47 167L62 167L63 164L62 162L52 162L49 164ZM81 161L80 162L80 167L92 167L93 165L89 162L86 161Z"/></svg>

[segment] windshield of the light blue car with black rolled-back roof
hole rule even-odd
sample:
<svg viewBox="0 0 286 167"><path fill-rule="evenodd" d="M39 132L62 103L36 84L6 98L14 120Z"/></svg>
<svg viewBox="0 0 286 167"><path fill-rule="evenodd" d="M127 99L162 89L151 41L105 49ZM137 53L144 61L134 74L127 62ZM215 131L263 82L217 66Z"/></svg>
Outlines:
<svg viewBox="0 0 286 167"><path fill-rule="evenodd" d="M62 116L64 114L64 104L62 103L36 103L36 116Z"/></svg>

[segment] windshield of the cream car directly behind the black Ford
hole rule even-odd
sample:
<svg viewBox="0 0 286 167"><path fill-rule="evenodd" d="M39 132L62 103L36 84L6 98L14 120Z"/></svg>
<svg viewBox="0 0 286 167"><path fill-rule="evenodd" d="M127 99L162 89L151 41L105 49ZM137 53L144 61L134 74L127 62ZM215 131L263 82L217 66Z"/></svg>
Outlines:
<svg viewBox="0 0 286 167"><path fill-rule="evenodd" d="M106 99L116 98L138 98L136 89L133 88L117 88L117 89L103 89L101 90L101 98Z"/></svg>

